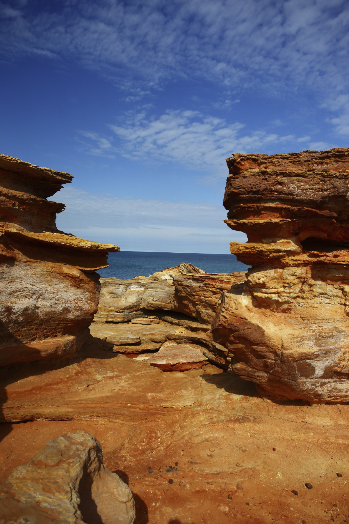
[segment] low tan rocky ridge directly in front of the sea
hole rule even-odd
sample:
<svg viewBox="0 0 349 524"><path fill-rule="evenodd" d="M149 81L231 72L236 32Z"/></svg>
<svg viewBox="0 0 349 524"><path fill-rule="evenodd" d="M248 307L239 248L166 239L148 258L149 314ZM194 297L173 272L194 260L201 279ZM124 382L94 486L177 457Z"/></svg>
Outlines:
<svg viewBox="0 0 349 524"><path fill-rule="evenodd" d="M244 271L207 274L192 264L181 264L149 277L102 278L94 321L128 322L145 317L144 310L162 309L178 311L210 324L222 292L244 280Z"/></svg>

